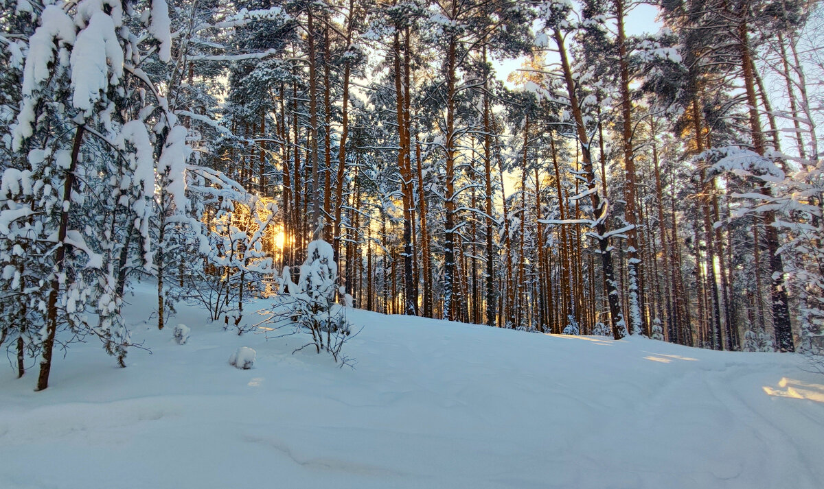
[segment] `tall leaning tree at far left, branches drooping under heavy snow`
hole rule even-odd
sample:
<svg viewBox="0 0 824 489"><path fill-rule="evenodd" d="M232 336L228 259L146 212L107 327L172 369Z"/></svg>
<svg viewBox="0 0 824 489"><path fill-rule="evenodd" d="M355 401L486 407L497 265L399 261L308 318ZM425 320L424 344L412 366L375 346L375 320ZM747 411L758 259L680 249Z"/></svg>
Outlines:
<svg viewBox="0 0 824 489"><path fill-rule="evenodd" d="M31 341L42 352L39 390L48 387L55 344L67 341L59 332L98 336L121 366L129 344L109 259L115 223L96 207L120 182L101 171L106 158L96 156L116 147L112 114L132 93L124 90L124 45L132 36L119 0L56 3L44 6L39 26L21 38L28 49L20 110L2 137L27 161L16 162L26 175L3 175L10 185L3 209L16 212L7 214L9 236L23 251L12 268L25 274L4 270L0 294L25 296L17 319L25 315L26 328L38 332ZM97 314L96 326L87 312Z"/></svg>

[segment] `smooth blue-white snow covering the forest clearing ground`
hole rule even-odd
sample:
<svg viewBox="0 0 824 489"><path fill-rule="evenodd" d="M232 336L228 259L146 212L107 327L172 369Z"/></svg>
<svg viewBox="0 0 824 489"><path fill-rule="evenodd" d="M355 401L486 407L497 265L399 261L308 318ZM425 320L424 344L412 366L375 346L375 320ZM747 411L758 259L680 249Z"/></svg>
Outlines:
<svg viewBox="0 0 824 489"><path fill-rule="evenodd" d="M41 393L2 369L0 487L824 487L824 375L799 356L352 311L339 369L190 307L157 332L151 290L128 368L89 342Z"/></svg>

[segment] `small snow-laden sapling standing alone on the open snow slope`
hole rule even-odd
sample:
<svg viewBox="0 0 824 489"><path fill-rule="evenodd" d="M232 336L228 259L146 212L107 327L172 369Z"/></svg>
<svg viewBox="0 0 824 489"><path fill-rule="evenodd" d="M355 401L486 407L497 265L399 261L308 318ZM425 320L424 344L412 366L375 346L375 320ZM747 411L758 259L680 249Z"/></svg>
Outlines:
<svg viewBox="0 0 824 489"><path fill-rule="evenodd" d="M353 336L352 325L346 319L346 307L352 298L338 286L338 265L334 250L324 240L314 240L307 247L307 259L301 266L297 284L292 281L288 268L279 277L280 293L275 297L272 308L266 311L265 323L274 324L274 330L293 326L287 334L305 333L311 341L303 348L313 346L316 352L328 352L332 358L349 363L341 353L344 343ZM335 302L335 296L343 304Z"/></svg>

